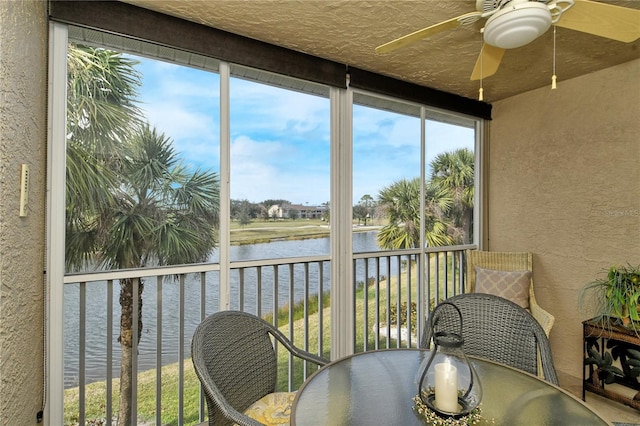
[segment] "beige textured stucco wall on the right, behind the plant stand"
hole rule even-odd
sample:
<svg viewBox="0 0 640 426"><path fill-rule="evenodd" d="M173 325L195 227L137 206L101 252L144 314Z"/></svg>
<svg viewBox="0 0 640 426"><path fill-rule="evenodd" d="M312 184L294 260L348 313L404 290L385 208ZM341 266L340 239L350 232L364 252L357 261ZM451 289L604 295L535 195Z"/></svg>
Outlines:
<svg viewBox="0 0 640 426"><path fill-rule="evenodd" d="M556 368L582 377L579 290L640 264L640 59L497 102L493 116L489 249L533 252Z"/></svg>

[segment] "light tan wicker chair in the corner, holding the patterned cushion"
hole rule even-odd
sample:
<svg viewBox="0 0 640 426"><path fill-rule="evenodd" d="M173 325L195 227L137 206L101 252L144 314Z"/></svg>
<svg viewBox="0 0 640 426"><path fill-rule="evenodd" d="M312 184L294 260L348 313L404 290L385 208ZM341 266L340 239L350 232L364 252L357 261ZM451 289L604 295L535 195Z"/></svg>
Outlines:
<svg viewBox="0 0 640 426"><path fill-rule="evenodd" d="M473 293L476 288L476 266L499 271L530 271L533 273L532 255L528 252L493 252L467 251L467 285L466 291ZM533 278L529 286L529 309L531 315L540 323L545 334L549 337L555 318L538 305L533 291Z"/></svg>

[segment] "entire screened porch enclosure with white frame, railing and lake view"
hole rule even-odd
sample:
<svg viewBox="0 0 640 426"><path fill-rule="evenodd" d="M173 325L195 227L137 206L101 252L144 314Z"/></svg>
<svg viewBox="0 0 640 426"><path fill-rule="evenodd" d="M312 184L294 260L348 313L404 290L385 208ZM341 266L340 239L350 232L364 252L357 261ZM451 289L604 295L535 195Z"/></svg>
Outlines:
<svg viewBox="0 0 640 426"><path fill-rule="evenodd" d="M206 407L190 339L211 313L267 318L300 347L335 359L417 346L430 309L464 290L464 253L479 238L481 119L80 26L53 23L51 35L51 155L61 161L50 166L49 226L66 230L50 240L51 279L63 283L51 290L51 321L63 325L50 331L53 418L115 424L123 333L131 341L131 423L193 424ZM103 77L85 78L92 57L129 73L131 87L118 88L121 104L85 106L98 92L116 90L96 83ZM96 87L84 87L88 81L98 87L90 96L83 90ZM127 127L99 127L111 119L92 114L122 104ZM166 155L151 155L160 151ZM104 176L74 180L78 158L95 161ZM161 159L168 160L153 186L144 171ZM133 171L125 173L129 162ZM104 204L83 202L91 198L81 197L88 182L110 168L113 180L91 188L105 194L93 197ZM464 177L464 200L435 184L452 168ZM201 198L193 192L199 183ZM208 206L203 214L189 210L198 199ZM149 205L163 210L145 219L141 207ZM275 218L273 206L323 213ZM114 255L140 224L160 216L165 222L145 225L154 231L130 245L133 261ZM186 223L176 217L206 226L172 240L171 231ZM109 220L118 226L98 227ZM260 229L276 221L287 221L290 234ZM88 243L107 231L117 232ZM182 247L196 235L208 244L194 249L197 261L160 247ZM288 240L313 244L281 251L278 243ZM268 248L252 251L261 245ZM313 373L286 358L281 364L283 390Z"/></svg>

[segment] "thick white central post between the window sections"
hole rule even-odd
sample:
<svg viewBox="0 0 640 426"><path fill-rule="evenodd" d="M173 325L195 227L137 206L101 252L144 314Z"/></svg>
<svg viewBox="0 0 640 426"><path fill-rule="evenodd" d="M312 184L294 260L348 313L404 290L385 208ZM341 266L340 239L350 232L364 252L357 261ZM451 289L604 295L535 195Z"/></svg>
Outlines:
<svg viewBox="0 0 640 426"><path fill-rule="evenodd" d="M331 89L331 359L354 351L353 92Z"/></svg>

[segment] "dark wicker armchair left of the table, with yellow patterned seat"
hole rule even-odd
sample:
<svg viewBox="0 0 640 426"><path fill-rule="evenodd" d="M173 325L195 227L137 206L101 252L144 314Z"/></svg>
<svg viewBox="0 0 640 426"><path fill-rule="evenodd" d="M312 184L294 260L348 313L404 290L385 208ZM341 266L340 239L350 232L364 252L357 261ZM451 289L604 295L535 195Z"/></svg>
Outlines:
<svg viewBox="0 0 640 426"><path fill-rule="evenodd" d="M198 325L191 356L206 396L209 425L261 424L243 412L276 391L278 360L272 338L298 358L319 366L328 363L296 348L271 324L245 312L218 312Z"/></svg>

